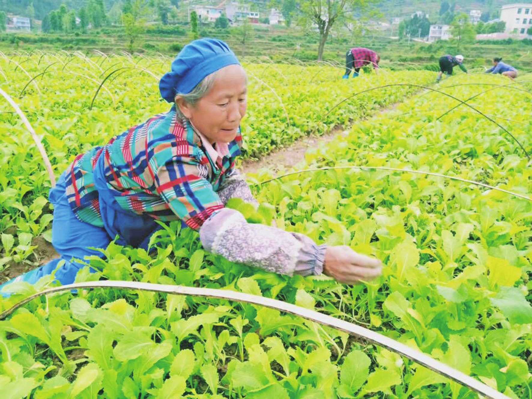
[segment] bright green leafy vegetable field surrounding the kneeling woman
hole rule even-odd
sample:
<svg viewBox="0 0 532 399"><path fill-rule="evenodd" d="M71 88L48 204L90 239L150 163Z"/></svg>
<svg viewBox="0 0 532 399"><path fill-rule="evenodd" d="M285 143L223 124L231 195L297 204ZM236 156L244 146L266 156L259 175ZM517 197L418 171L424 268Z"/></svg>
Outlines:
<svg viewBox="0 0 532 399"><path fill-rule="evenodd" d="M0 54L0 88L55 176L78 153L169 105L160 57ZM244 157L343 127L286 176L248 176L249 221L377 256L356 286L286 277L204 252L172 223L152 251L111 244L77 281L218 288L356 323L532 398L532 76L428 71L343 80L325 63L244 64ZM35 267L50 238L48 173L9 102L0 107L0 271ZM389 106L382 111L381 107ZM453 109L453 107L456 107ZM0 311L53 285L19 285ZM3 282L3 281L2 281ZM477 393L391 350L264 306L120 288L41 296L0 321L2 397L465 398Z"/></svg>

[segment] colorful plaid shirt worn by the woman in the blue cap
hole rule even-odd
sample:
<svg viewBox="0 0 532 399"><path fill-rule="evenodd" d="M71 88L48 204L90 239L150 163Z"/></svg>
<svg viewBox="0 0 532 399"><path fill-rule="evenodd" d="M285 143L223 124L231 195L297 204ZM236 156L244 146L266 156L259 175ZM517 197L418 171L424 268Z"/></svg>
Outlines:
<svg viewBox="0 0 532 399"><path fill-rule="evenodd" d="M229 154L212 160L200 137L169 112L78 155L67 170L66 195L78 219L103 227L93 170L104 157L107 188L125 210L161 221L182 220L199 229L223 208L216 193L240 154L240 129Z"/></svg>

